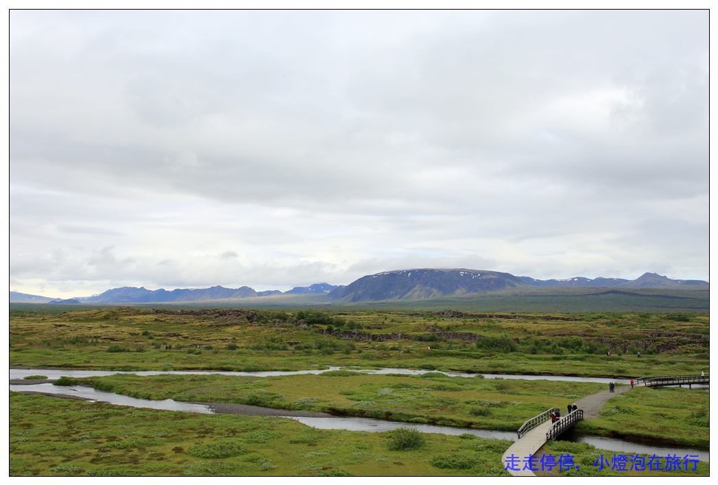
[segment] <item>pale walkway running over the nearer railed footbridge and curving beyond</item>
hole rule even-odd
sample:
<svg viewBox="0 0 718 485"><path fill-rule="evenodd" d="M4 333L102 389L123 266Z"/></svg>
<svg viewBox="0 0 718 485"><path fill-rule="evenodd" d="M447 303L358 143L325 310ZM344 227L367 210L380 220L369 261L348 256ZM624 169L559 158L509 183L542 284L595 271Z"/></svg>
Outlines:
<svg viewBox="0 0 718 485"><path fill-rule="evenodd" d="M606 389L605 391L590 394L582 399L578 399L576 401L576 405L579 410L583 410L584 420L592 420L599 417L598 413L601 411L601 408L605 405L605 402L608 399L615 397L617 394L621 394L622 392L630 391L630 389L630 386L616 386L615 392L610 392ZM557 407L561 408L563 405L559 405ZM523 468L524 465L526 465L527 468L525 470L508 469L508 473L513 476L536 476L533 471L528 469L528 463L526 463L525 460L528 456L532 456L533 453L536 453L538 448L541 448L541 446L546 443L546 431L548 431L549 428L551 428L551 420L546 420L546 422L542 422L540 425L536 426L536 428L533 428L531 431L523 435L519 440L515 441L513 445L510 445L508 450L506 450L501 457L501 462L504 467L507 463L506 458L513 455L518 457L516 458L516 461L513 462L513 468Z"/></svg>

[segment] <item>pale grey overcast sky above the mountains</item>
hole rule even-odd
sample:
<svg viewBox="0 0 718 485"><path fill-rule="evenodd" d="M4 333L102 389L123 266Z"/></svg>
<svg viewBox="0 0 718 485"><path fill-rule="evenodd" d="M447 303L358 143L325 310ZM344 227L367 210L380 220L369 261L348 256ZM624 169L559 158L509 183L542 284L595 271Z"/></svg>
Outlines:
<svg viewBox="0 0 718 485"><path fill-rule="evenodd" d="M9 286L709 279L707 11L20 11Z"/></svg>

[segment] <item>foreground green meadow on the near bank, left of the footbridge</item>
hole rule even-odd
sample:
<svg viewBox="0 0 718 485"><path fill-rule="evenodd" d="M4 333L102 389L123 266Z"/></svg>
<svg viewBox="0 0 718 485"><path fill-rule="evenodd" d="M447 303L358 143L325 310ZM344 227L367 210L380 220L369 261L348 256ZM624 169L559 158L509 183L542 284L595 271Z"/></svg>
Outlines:
<svg viewBox="0 0 718 485"><path fill-rule="evenodd" d="M504 475L507 440L316 430L281 417L195 415L10 394L11 476ZM460 453L467 459L450 466ZM449 463L449 466L447 466Z"/></svg>

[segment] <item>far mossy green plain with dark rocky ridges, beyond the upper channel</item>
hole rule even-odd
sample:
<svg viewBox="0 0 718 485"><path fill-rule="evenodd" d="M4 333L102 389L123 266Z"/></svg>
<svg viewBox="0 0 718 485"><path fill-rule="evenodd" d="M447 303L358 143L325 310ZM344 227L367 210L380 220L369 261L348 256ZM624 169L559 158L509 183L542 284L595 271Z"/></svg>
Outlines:
<svg viewBox="0 0 718 485"><path fill-rule="evenodd" d="M709 370L709 318L699 314L52 313L38 307L11 312L11 365L128 371L360 366L615 378ZM165 350L170 345L172 351Z"/></svg>

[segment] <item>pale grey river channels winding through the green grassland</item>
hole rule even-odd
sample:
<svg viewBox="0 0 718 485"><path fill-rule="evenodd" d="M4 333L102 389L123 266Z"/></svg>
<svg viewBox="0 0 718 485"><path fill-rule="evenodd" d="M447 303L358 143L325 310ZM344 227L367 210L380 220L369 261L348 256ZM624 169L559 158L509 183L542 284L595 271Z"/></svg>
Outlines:
<svg viewBox="0 0 718 485"><path fill-rule="evenodd" d="M223 374L223 375L235 375L235 376L253 376L253 377L271 377L271 376L286 376L295 374L321 374L331 370L337 370L340 367L330 367L329 369L316 369L308 371L265 371L265 372L231 372L231 371L87 371L87 370L59 370L59 369L9 369L10 379L24 379L25 377L33 375L46 376L48 379L59 379L62 376L66 377L90 377L90 376L108 376L112 374L137 374L137 375L160 375L160 374ZM426 374L432 371L419 371L410 369L372 369L362 370L356 369L357 371L363 371L368 374L406 374L406 375L420 375ZM443 372L452 377L475 377L476 374L459 374L452 372ZM602 379L592 377L565 377L565 376L519 376L519 375L506 375L506 374L483 374L485 379L492 378L503 378L503 379L546 379L546 380L561 380L561 381L579 381L579 382L617 382L620 384L628 384L626 379ZM148 399L136 399L134 397L123 396L121 394L114 394L113 392L103 392L93 389L91 387L75 386L75 387L60 387L53 384L19 384L10 385L11 391L23 392L45 392L49 394L69 394L77 397L83 397L90 401L108 402L113 405L131 406L131 407L148 407L157 410L169 410L169 411L182 411L182 412L199 412L205 414L212 414L208 406L199 405L191 402L180 402L174 401L173 399L164 399L163 401L152 401ZM363 417L291 417L293 420L302 422L304 425L311 426L312 428L320 428L325 430L350 430L350 431L368 431L368 432L381 432L387 430L393 430L400 428L401 426L411 426L424 433L440 433L444 435L461 435L463 433L470 433L480 438L499 438L503 440L516 440L516 433L506 431L490 431L490 430L475 430L466 428L452 428L449 426L433 426L433 425L419 425L411 424L407 425L404 422L395 421L384 421L376 420L371 418ZM613 451L616 453L655 453L657 456L666 456L668 453L671 455L676 454L679 456L693 455L698 456L700 461L709 461L709 451L703 449L694 448L682 448L675 446L659 446L659 445L646 445L642 443L633 443L625 440L618 440L615 438L602 438L598 436L579 435L578 433L568 433L565 439L571 440L575 443L587 443L594 445L596 448L602 450Z"/></svg>

